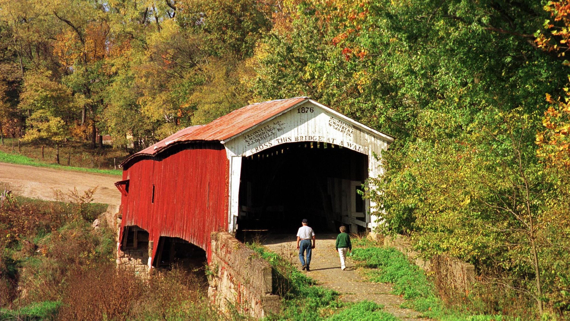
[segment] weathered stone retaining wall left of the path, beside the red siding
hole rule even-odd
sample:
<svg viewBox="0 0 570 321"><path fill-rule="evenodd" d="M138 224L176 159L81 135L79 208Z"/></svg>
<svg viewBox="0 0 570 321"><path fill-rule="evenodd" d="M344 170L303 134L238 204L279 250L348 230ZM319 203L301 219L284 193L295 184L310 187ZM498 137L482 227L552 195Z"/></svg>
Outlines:
<svg viewBox="0 0 570 321"><path fill-rule="evenodd" d="M280 298L271 293L271 265L231 234L211 234L209 267L208 296L222 311L235 307L254 318L279 311Z"/></svg>

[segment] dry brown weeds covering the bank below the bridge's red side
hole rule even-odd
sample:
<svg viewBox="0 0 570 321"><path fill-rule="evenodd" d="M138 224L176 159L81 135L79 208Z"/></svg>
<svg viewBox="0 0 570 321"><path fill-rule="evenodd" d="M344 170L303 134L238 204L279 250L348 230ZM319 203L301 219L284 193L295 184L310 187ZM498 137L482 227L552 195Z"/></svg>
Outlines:
<svg viewBox="0 0 570 321"><path fill-rule="evenodd" d="M0 320L225 318L193 272L157 271L145 282L117 269L113 231L87 220L106 206L68 196L74 203L18 198L0 206Z"/></svg>

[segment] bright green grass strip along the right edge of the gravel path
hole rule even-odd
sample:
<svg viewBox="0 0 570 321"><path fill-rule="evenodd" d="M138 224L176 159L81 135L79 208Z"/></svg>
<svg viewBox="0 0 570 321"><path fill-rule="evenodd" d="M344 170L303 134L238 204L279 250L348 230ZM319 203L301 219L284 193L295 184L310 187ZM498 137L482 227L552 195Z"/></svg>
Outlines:
<svg viewBox="0 0 570 321"><path fill-rule="evenodd" d="M425 272L396 248L380 247L367 240L353 242L352 258L360 261L363 273L370 282L393 283L393 294L406 299L403 308L413 308L424 316L441 321L521 321L520 318L496 314L470 313L469 306L477 302L466 302L465 306L446 306L435 295L435 287ZM475 298L470 298L475 301Z"/></svg>

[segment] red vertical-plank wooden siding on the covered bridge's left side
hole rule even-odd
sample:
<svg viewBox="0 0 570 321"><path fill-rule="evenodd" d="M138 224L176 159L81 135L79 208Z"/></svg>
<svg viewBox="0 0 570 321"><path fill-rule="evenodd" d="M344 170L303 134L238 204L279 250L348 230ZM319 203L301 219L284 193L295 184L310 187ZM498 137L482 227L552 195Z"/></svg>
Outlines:
<svg viewBox="0 0 570 321"><path fill-rule="evenodd" d="M153 258L158 238L171 236L203 248L210 260L210 233L227 229L228 172L220 143L184 145L132 163L123 171L129 192L121 199L121 234L132 225L148 231Z"/></svg>

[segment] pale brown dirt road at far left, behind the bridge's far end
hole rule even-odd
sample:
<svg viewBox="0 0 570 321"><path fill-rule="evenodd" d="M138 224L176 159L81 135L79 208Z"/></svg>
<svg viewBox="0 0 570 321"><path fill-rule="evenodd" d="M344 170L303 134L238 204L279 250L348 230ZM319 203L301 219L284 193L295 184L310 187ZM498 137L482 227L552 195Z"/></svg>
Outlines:
<svg viewBox="0 0 570 321"><path fill-rule="evenodd" d="M98 186L93 202L119 205L121 193L114 185L117 180L120 176L0 163L0 189L31 198L54 200L54 188L66 193L77 187L83 193Z"/></svg>

